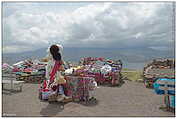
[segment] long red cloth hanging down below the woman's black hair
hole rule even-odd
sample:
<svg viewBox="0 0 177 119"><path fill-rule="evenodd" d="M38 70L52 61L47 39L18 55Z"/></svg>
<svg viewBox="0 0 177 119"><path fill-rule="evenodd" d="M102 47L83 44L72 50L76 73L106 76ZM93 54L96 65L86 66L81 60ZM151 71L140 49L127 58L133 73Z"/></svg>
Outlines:
<svg viewBox="0 0 177 119"><path fill-rule="evenodd" d="M55 61L55 65L50 73L50 83L54 81L55 78L55 74L58 71L59 67L61 66L61 62L60 61Z"/></svg>

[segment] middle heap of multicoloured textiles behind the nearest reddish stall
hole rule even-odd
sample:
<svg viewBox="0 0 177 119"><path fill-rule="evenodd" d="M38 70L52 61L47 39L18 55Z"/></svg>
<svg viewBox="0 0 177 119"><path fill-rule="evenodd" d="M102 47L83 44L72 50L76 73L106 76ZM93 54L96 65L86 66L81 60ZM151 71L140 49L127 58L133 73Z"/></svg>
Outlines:
<svg viewBox="0 0 177 119"><path fill-rule="evenodd" d="M112 85L118 84L121 80L121 61L105 60L104 58L82 58L82 66L72 67L65 71L65 74L75 76L87 76L95 78L96 82L103 84L106 82Z"/></svg>

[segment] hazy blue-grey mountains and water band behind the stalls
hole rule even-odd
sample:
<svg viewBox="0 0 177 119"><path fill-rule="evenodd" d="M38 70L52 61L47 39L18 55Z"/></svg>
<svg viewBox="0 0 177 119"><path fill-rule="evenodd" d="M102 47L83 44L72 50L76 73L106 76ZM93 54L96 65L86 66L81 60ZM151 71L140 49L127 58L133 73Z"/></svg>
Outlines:
<svg viewBox="0 0 177 119"><path fill-rule="evenodd" d="M46 49L23 53L3 53L3 62L13 64L28 58L42 58L46 56ZM127 68L142 69L144 64L154 58L174 58L174 51L160 51L151 48L64 48L63 57L69 61L79 61L81 57L105 57L110 59L121 59ZM133 65L132 65L133 64ZM140 66L139 66L140 65Z"/></svg>

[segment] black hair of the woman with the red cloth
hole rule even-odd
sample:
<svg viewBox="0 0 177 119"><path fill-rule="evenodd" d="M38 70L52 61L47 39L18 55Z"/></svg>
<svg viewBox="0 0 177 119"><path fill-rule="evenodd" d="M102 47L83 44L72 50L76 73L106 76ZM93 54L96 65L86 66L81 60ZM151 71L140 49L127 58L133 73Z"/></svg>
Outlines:
<svg viewBox="0 0 177 119"><path fill-rule="evenodd" d="M57 45L52 45L50 47L50 53L52 54L54 60L61 60L61 54L59 53L59 47Z"/></svg>

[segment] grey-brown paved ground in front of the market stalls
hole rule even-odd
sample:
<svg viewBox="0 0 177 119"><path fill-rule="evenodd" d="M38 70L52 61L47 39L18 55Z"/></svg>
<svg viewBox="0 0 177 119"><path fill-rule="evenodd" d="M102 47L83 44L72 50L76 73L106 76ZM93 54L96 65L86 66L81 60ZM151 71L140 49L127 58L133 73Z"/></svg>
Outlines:
<svg viewBox="0 0 177 119"><path fill-rule="evenodd" d="M7 88L7 87L6 87ZM64 108L38 99L38 85L25 84L20 93L3 91L4 116L174 116L159 109L162 96L142 83L125 81L121 87L101 86L96 90L98 103L86 106L70 102Z"/></svg>

